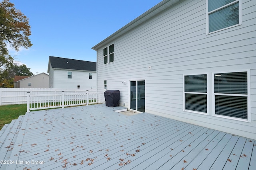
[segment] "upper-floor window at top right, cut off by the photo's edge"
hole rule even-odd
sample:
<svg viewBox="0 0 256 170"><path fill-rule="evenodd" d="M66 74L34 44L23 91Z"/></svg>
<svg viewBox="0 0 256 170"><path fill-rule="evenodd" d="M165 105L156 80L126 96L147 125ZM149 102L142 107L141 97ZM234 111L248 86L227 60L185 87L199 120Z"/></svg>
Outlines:
<svg viewBox="0 0 256 170"><path fill-rule="evenodd" d="M206 0L208 33L242 23L241 0Z"/></svg>

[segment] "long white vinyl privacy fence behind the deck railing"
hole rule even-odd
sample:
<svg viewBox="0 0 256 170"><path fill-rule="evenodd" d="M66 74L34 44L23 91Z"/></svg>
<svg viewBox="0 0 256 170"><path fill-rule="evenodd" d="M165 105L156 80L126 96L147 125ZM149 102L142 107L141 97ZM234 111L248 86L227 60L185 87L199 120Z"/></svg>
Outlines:
<svg viewBox="0 0 256 170"><path fill-rule="evenodd" d="M87 90L81 89L56 89L56 88L0 88L0 106L8 104L26 104L27 92L30 95L48 95L48 94L68 93L86 93ZM89 92L96 92L89 90Z"/></svg>

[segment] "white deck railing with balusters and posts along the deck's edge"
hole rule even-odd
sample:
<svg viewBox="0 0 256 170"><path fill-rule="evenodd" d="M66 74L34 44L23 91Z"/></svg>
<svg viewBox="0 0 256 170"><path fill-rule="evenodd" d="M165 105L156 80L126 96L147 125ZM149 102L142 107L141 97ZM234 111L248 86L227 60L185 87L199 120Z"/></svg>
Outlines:
<svg viewBox="0 0 256 170"><path fill-rule="evenodd" d="M68 106L80 106L105 102L103 92L64 93L30 95L27 92L27 112L31 110L64 108Z"/></svg>

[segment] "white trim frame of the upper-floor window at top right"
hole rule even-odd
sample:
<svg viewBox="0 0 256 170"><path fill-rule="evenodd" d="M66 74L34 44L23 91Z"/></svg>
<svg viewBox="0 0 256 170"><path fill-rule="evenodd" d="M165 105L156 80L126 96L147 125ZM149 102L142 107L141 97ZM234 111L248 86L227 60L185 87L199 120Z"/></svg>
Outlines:
<svg viewBox="0 0 256 170"><path fill-rule="evenodd" d="M212 31L212 32L209 33L209 14L212 14L213 12L215 12L217 10L220 10L222 8L225 8L227 6L230 6L232 4L236 4L237 2L238 2L238 6L239 6L239 23L236 24L236 25L232 25L230 27L218 29L216 31ZM210 12L208 12L208 0L206 0L206 35L212 34L212 33L216 33L218 31L222 31L222 30L229 29L229 28L232 28L232 27L236 27L238 25L242 25L242 0L236 0L234 2L230 2L229 4L224 5L224 6L220 7L220 8L215 9L215 10L212 10Z"/></svg>

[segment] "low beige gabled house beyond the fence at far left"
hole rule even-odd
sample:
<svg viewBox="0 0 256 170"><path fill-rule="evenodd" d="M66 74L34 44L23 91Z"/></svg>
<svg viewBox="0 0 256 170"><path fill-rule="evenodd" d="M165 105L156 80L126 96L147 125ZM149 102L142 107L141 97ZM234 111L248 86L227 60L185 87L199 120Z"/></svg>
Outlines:
<svg viewBox="0 0 256 170"><path fill-rule="evenodd" d="M49 75L42 72L34 76L15 76L14 88L48 88Z"/></svg>

